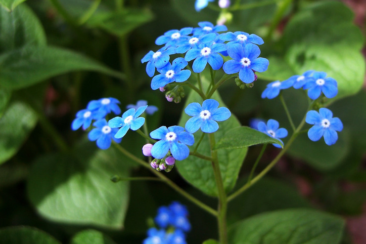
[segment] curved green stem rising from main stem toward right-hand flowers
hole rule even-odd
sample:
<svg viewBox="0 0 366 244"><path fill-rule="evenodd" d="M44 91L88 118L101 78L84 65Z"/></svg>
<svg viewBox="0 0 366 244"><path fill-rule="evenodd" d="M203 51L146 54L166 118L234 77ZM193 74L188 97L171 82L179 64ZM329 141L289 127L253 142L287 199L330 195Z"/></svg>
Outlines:
<svg viewBox="0 0 366 244"><path fill-rule="evenodd" d="M312 104L309 106L311 108ZM292 142L295 140L295 138L299 135L299 132L301 128L304 126L306 119L306 115L304 116L303 120L300 122L299 126L296 128L296 130L292 133L290 139L286 143L286 146L283 148L281 152L274 158L274 160L265 167L265 169L262 170L256 177L254 177L252 180L247 182L244 186L242 186L240 189L238 189L236 192L231 194L228 197L228 202L239 196L241 193L243 193L245 190L247 190L249 187L251 187L254 183L262 179L263 176L267 174L268 171L270 171L274 165L278 162L278 160L282 157L282 155L288 150L288 148L291 146Z"/></svg>

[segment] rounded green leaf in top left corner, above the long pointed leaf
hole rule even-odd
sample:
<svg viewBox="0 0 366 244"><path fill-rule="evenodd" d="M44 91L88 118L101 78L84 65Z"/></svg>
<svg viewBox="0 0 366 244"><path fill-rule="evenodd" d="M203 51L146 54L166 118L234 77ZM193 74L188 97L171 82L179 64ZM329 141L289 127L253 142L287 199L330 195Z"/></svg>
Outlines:
<svg viewBox="0 0 366 244"><path fill-rule="evenodd" d="M0 8L0 52L24 45L46 45L46 34L38 17L25 4L8 12Z"/></svg>

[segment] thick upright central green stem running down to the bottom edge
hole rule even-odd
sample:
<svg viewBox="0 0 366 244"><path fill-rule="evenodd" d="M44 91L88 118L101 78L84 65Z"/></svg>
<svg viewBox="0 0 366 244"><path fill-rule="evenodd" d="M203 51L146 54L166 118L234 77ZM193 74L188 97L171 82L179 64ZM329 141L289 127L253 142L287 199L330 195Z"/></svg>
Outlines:
<svg viewBox="0 0 366 244"><path fill-rule="evenodd" d="M227 231L227 223L226 223L226 213L228 209L228 201L225 193L223 178L220 171L219 160L217 156L217 151L215 148L215 135L214 133L209 134L210 138L210 147L211 147L211 157L212 157L212 167L214 169L215 181L218 190L218 227L219 227L219 240L220 244L228 244L228 231Z"/></svg>

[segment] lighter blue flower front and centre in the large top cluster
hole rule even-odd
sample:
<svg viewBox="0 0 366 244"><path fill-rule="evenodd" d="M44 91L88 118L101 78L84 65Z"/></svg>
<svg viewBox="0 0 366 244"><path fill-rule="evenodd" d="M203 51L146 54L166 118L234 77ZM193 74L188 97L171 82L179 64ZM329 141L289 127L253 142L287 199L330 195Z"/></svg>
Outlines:
<svg viewBox="0 0 366 244"><path fill-rule="evenodd" d="M224 63L223 57L218 54L226 50L224 43L206 42L199 45L199 48L193 48L187 51L184 59L186 61L193 61L192 69L195 73L201 73L207 62L211 65L213 70L219 70Z"/></svg>

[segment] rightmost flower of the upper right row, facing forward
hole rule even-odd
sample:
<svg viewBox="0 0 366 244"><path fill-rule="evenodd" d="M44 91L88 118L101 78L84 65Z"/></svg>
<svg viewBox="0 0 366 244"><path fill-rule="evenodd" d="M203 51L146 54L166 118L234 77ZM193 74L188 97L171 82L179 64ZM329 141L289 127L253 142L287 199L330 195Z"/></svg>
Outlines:
<svg viewBox="0 0 366 244"><path fill-rule="evenodd" d="M325 72L314 72L313 78L303 86L304 89L309 89L308 96L311 99L317 99L321 92L323 92L324 96L327 98L333 98L337 95L337 81L333 78L325 77Z"/></svg>

